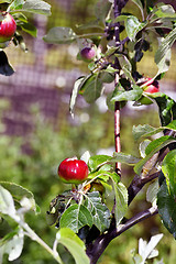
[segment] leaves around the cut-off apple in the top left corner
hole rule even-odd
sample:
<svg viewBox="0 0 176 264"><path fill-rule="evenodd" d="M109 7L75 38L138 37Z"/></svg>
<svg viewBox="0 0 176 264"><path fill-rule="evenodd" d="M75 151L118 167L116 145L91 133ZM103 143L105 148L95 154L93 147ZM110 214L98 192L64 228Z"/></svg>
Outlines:
<svg viewBox="0 0 176 264"><path fill-rule="evenodd" d="M36 28L33 23L29 21L25 13L44 15L51 14L51 6L43 0L38 0L37 3L34 0L2 0L0 1L0 10L11 13L14 18L16 23L16 31L11 42L15 46L20 46L21 50L24 52L28 52L28 48L23 38L23 33L25 32L33 37L37 36ZM7 48L8 45L3 48ZM14 73L14 69L9 64L8 57L3 48L0 51L0 74L10 76Z"/></svg>

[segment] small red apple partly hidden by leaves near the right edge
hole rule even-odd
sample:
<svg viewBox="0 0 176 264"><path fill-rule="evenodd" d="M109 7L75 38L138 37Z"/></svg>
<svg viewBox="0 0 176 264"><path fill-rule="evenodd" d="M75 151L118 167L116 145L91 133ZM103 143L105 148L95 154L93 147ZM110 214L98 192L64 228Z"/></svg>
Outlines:
<svg viewBox="0 0 176 264"><path fill-rule="evenodd" d="M145 85L146 84L146 85ZM142 84L142 88L144 89L144 94L154 94L160 92L160 85L157 80L153 80L152 78L146 78L146 80ZM151 105L153 103L147 97L142 96L139 100L141 105Z"/></svg>

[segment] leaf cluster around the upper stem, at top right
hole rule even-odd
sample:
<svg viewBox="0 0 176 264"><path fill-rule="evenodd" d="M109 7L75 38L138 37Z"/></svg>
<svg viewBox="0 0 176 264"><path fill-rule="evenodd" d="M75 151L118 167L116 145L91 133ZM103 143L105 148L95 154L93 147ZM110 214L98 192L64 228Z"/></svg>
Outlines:
<svg viewBox="0 0 176 264"><path fill-rule="evenodd" d="M96 20L78 26L76 29L78 33L69 28L57 26L51 29L44 36L44 41L47 43L69 44L77 42L80 51L87 43L97 46L97 56L88 65L90 74L78 78L75 82L70 99L72 113L78 92L84 96L87 102L91 103L102 95L105 84L114 80L116 74L118 74L119 81L114 90L109 92L107 97L108 107L112 109L114 101L125 102L129 100L138 105L136 102L143 96L143 89L140 87L143 76L136 72L138 63L142 59L143 52L150 51L152 47L150 40L154 37L158 41L158 48L155 52L158 72L153 76L153 79L161 79L168 70L170 48L176 40L174 8L162 2L154 7L144 4L143 1L133 0L133 2L140 8L141 21L129 13L113 18L111 13L113 3L108 0L98 1L95 9ZM122 29L121 35L123 37L118 45L113 37L117 24ZM95 33L95 29L98 32ZM80 34L79 32L82 30L89 30L89 32Z"/></svg>

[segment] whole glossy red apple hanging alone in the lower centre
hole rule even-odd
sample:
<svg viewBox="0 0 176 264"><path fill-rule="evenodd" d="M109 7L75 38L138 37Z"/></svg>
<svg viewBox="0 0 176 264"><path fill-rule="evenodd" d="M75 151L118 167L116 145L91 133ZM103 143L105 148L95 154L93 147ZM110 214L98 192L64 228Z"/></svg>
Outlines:
<svg viewBox="0 0 176 264"><path fill-rule="evenodd" d="M58 166L58 176L66 184L80 184L88 177L88 166L76 157L66 158Z"/></svg>

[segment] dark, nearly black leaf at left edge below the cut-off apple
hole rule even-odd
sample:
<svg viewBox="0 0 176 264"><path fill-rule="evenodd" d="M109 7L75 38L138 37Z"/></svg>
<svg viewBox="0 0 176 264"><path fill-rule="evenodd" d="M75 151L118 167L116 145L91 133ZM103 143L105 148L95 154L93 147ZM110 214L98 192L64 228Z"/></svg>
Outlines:
<svg viewBox="0 0 176 264"><path fill-rule="evenodd" d="M11 76L14 74L14 69L8 62L8 57L3 51L0 51L0 74Z"/></svg>

